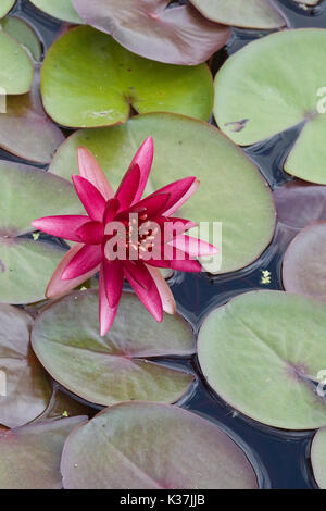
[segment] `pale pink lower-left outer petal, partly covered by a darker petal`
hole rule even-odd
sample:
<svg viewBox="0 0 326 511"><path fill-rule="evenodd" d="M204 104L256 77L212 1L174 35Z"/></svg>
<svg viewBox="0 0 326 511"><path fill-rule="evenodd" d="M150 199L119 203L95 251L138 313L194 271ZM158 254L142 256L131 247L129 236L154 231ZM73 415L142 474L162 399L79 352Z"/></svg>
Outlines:
<svg viewBox="0 0 326 511"><path fill-rule="evenodd" d="M85 247L84 244L76 244L74 245L73 248L71 248L64 258L62 259L61 263L57 267L55 272L52 275L51 281L48 284L46 296L48 298L55 298L62 295L65 295L66 292L71 291L75 287L79 286L83 284L85 281L90 278L92 275L95 275L99 271L99 266L93 267L91 271L88 273L85 273L84 275L80 275L77 278L73 278L71 281L62 281L62 274L64 270L66 269L67 264L71 262L71 260L78 253L83 247Z"/></svg>

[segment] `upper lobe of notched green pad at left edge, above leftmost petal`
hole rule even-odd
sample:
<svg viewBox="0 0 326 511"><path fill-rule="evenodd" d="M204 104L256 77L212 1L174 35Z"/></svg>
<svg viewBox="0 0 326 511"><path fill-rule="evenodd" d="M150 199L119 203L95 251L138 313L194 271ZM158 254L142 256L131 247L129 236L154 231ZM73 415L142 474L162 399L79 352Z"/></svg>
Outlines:
<svg viewBox="0 0 326 511"><path fill-rule="evenodd" d="M83 211L71 183L39 169L1 161L0 182L0 237L30 233L41 216Z"/></svg>

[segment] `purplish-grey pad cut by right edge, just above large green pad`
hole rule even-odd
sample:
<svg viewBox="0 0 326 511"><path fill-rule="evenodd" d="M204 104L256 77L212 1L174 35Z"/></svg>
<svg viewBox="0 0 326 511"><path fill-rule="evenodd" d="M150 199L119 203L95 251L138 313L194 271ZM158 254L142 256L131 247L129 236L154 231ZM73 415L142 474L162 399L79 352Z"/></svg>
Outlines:
<svg viewBox="0 0 326 511"><path fill-rule="evenodd" d="M326 222L314 222L290 244L283 262L287 291L326 301Z"/></svg>

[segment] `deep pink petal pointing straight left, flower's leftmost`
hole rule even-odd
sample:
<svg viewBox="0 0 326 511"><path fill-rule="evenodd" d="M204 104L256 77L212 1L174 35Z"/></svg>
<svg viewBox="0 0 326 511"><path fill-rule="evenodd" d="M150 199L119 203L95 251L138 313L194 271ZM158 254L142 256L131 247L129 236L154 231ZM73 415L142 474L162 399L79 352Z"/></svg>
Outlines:
<svg viewBox="0 0 326 511"><path fill-rule="evenodd" d="M58 236L58 238L82 241L76 232L88 221L89 217L83 215L43 216L42 219L34 220L32 225L51 236Z"/></svg>

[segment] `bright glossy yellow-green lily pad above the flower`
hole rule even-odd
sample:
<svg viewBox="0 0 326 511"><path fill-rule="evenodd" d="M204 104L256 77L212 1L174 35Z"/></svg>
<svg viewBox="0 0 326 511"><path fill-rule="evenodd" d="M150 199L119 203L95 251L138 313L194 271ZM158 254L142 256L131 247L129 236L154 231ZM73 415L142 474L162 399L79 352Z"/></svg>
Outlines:
<svg viewBox="0 0 326 511"><path fill-rule="evenodd" d="M41 94L48 114L73 127L125 122L131 108L208 120L213 103L206 64L149 61L89 26L68 30L52 45L41 70Z"/></svg>

